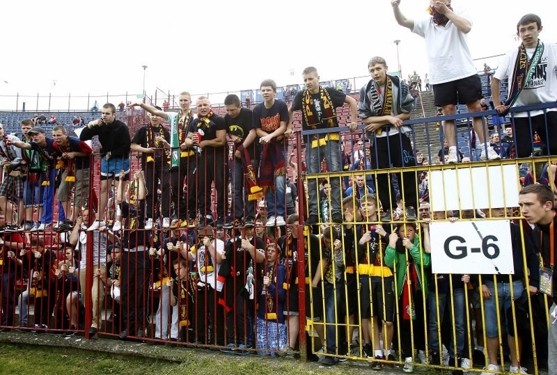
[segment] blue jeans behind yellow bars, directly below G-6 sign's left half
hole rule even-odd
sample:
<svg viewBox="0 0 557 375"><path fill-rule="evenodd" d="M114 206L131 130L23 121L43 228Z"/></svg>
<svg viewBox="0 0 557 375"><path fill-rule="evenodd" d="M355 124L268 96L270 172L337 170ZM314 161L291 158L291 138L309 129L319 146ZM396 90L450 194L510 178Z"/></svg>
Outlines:
<svg viewBox="0 0 557 375"><path fill-rule="evenodd" d="M452 296L452 298L451 298ZM452 294L439 293L439 302L435 298L435 293L430 292L430 344L432 351L439 352L439 326L443 324L445 311L449 319L453 320L452 308L455 308L455 322L451 326L455 327L457 350L455 353L455 340L453 330L450 331L450 343L448 354L451 358L460 358L464 350L464 289L453 289ZM439 303L439 323L437 322L437 304ZM448 308L448 310L446 310Z"/></svg>

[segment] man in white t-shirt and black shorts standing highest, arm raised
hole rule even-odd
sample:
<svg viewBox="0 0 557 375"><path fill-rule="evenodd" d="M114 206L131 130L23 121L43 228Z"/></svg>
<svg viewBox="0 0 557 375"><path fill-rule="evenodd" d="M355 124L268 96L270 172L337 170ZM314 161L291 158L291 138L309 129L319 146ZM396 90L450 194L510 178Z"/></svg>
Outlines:
<svg viewBox="0 0 557 375"><path fill-rule="evenodd" d="M456 104L466 104L469 112L481 112L482 83L476 73L466 35L472 29L469 15L453 10L450 0L430 0L430 18L414 21L402 15L400 0L391 0L395 19L413 33L425 39L425 49L430 65L430 84L433 85L435 105L444 115L454 115ZM485 132L481 117L473 118L473 128L478 134L482 160L499 159L489 144L485 145ZM448 139L448 162L457 163L457 138L454 120L445 120L443 131ZM486 153L487 151L487 153Z"/></svg>

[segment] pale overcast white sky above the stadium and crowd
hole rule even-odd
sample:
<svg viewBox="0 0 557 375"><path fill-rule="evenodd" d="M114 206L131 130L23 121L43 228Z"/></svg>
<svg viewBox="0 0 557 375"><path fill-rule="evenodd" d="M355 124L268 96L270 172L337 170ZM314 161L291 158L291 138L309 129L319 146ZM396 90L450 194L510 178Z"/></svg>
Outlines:
<svg viewBox="0 0 557 375"><path fill-rule="evenodd" d="M453 0L473 15L473 58L517 45L516 24L526 13L540 15L540 38L556 42L550 18L556 3ZM427 0L402 0L400 8L420 19L428 17L427 6ZM141 65L148 66L148 94L157 87L173 94L258 88L266 78L285 86L301 83L308 65L322 80L359 77L375 55L396 70L397 39L402 74L427 72L423 39L396 24L390 0L20 0L2 8L0 95L141 93ZM34 106L36 99L26 101ZM12 102L0 97L0 109Z"/></svg>

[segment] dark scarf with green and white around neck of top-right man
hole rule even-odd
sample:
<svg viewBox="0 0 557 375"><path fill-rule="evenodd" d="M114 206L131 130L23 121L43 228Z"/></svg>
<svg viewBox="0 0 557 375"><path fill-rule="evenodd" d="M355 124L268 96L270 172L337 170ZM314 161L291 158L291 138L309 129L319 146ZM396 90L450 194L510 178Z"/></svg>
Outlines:
<svg viewBox="0 0 557 375"><path fill-rule="evenodd" d="M501 113L502 116L506 115L515 102L517 102L522 89L524 89L524 87L526 87L528 82L532 79L535 67L542 60L543 54L544 45L543 43L540 43L540 40L538 40L538 46L536 46L530 61L528 61L528 55L526 54L526 47L524 47L524 43L521 43L518 47L517 61L515 61L515 70L512 72L509 97L505 102L505 106L508 106L508 109Z"/></svg>

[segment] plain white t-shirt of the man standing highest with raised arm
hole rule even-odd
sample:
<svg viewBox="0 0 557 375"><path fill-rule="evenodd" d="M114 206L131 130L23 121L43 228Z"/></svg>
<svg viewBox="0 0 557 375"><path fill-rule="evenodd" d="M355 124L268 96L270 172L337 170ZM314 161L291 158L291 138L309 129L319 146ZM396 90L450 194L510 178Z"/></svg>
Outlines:
<svg viewBox="0 0 557 375"><path fill-rule="evenodd" d="M462 10L455 9L454 12L472 22ZM452 21L447 22L445 26L438 26L433 23L432 17L421 19L414 21L412 32L425 39L432 85L476 74L476 67L468 48L468 38Z"/></svg>

